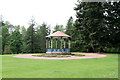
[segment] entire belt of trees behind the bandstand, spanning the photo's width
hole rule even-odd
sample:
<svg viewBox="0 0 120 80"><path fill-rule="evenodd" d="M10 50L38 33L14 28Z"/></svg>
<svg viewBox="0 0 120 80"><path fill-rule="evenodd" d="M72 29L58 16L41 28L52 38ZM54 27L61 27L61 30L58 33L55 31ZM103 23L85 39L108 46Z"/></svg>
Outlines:
<svg viewBox="0 0 120 80"><path fill-rule="evenodd" d="M46 51L45 36L60 30L72 37L71 51L120 52L120 1L77 1L76 20L68 19L65 27L56 25L51 32L45 23L35 28L34 20L26 29L0 21L3 53L41 53Z"/></svg>

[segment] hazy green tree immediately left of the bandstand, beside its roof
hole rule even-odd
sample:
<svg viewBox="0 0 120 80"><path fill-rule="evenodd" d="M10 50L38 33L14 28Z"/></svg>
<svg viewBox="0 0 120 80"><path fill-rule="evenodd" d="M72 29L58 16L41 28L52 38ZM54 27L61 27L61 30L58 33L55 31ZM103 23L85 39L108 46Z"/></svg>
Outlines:
<svg viewBox="0 0 120 80"><path fill-rule="evenodd" d="M46 37L50 34L47 24L43 23L35 33L35 52L46 51Z"/></svg>

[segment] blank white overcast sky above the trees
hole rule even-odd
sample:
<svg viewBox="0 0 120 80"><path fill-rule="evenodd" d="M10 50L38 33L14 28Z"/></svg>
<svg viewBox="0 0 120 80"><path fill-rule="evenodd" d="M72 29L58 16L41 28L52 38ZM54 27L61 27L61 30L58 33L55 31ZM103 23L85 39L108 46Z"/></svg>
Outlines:
<svg viewBox="0 0 120 80"><path fill-rule="evenodd" d="M28 27L32 16L39 24L47 23L51 27L66 25L70 16L75 19L77 0L1 0L0 15L4 21L13 25Z"/></svg>

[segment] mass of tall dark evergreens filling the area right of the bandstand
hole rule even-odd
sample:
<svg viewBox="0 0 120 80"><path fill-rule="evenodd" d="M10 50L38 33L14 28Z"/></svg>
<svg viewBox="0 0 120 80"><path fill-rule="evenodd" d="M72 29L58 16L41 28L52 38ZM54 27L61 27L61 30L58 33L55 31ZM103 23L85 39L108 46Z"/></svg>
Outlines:
<svg viewBox="0 0 120 80"><path fill-rule="evenodd" d="M77 50L120 52L120 1L78 1L74 10L74 46L80 46Z"/></svg>

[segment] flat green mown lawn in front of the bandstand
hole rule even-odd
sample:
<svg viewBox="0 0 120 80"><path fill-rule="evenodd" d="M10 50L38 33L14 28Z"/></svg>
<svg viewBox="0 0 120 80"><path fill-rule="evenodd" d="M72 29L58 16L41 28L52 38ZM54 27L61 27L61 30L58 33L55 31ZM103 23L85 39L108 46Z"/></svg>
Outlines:
<svg viewBox="0 0 120 80"><path fill-rule="evenodd" d="M2 55L3 78L118 78L118 54L106 58L40 60Z"/></svg>

